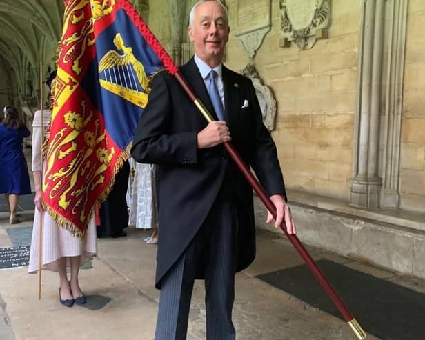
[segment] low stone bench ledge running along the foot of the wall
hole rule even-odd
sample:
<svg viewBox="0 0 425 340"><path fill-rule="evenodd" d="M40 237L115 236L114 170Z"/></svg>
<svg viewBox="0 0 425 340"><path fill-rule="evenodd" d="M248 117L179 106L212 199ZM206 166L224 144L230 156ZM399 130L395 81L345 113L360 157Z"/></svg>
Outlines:
<svg viewBox="0 0 425 340"><path fill-rule="evenodd" d="M411 212L386 214L361 210L335 199L293 191L288 192L288 197L303 243L425 279L423 216L421 219L419 214ZM415 219L412 221L409 216ZM266 209L258 197L255 197L255 218L258 228L284 237L281 230L265 223Z"/></svg>

